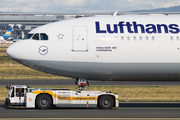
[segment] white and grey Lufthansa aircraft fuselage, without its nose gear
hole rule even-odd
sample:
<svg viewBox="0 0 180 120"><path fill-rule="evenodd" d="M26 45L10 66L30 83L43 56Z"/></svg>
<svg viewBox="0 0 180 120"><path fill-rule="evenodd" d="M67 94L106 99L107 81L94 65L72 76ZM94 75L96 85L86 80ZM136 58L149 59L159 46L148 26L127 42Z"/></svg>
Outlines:
<svg viewBox="0 0 180 120"><path fill-rule="evenodd" d="M101 16L38 27L7 54L78 80L180 80L180 16Z"/></svg>

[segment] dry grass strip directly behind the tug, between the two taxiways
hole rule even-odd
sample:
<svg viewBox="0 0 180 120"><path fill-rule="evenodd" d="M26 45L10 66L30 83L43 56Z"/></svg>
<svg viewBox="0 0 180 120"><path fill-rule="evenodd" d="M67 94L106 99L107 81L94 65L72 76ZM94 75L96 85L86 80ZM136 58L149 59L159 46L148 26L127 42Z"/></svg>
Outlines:
<svg viewBox="0 0 180 120"><path fill-rule="evenodd" d="M31 86L37 88L38 86ZM41 86L40 88L68 88L75 90L75 86ZM179 86L90 86L90 91L106 91L119 95L120 101L129 102L180 102ZM9 90L0 87L0 101L4 101Z"/></svg>

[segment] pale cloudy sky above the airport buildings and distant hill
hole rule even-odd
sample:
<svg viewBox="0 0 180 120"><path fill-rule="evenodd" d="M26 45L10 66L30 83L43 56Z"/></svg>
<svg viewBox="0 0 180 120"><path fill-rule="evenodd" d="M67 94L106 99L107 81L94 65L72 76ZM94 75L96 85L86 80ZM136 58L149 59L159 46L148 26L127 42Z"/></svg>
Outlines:
<svg viewBox="0 0 180 120"><path fill-rule="evenodd" d="M1 12L111 12L180 5L180 0L0 0Z"/></svg>

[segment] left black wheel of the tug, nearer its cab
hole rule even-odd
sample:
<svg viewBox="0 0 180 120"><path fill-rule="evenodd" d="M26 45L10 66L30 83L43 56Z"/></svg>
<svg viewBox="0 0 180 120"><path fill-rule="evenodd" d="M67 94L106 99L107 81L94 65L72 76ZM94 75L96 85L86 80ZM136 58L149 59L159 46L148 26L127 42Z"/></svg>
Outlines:
<svg viewBox="0 0 180 120"><path fill-rule="evenodd" d="M52 105L52 98L47 94L41 94L36 99L36 107L39 109L48 109Z"/></svg>

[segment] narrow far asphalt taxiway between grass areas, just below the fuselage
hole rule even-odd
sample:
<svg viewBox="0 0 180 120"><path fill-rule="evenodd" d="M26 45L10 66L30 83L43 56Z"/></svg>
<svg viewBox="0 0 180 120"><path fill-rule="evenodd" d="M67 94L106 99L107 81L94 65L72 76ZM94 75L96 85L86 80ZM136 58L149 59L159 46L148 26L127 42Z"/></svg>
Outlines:
<svg viewBox="0 0 180 120"><path fill-rule="evenodd" d="M180 81L89 81L90 86L93 85L113 85L113 86L152 86L152 85L164 85L164 86L179 86ZM0 80L0 86L5 85L34 85L34 86L46 86L46 85L75 85L73 79L59 79L59 80Z"/></svg>

